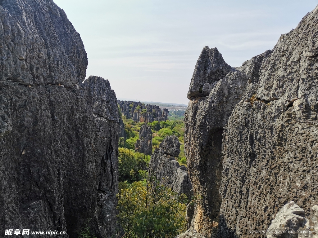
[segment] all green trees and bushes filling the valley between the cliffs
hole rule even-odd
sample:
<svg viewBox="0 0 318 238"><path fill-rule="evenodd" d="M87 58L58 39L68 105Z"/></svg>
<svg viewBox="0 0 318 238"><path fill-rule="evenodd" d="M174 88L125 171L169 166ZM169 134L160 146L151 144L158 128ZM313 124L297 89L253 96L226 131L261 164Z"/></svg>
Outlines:
<svg viewBox="0 0 318 238"><path fill-rule="evenodd" d="M131 105L131 108L133 105ZM136 110L141 108L136 107ZM120 112L120 110L119 110ZM146 109L142 113L147 113ZM154 113L154 112L153 112ZM122 117L126 140L119 138L119 194L118 222L127 238L168 238L182 233L186 229L186 195L177 195L170 188L160 185L148 174L149 155L135 153L135 143L139 139L139 130L144 122L134 122ZM181 120L148 123L153 132L153 150L167 135L176 135L181 142L178 161L186 164L183 152L184 124ZM85 228L83 235L90 235ZM86 232L86 233L84 233ZM93 236L81 238L93 238Z"/></svg>

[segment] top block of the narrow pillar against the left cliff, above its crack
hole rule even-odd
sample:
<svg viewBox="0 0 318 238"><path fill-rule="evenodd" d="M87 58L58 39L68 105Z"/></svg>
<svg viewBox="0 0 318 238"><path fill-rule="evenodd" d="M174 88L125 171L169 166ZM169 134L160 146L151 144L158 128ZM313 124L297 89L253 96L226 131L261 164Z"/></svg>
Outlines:
<svg viewBox="0 0 318 238"><path fill-rule="evenodd" d="M117 99L107 79L98 76L89 76L84 82L91 88L93 97L93 113L107 120L119 122Z"/></svg>

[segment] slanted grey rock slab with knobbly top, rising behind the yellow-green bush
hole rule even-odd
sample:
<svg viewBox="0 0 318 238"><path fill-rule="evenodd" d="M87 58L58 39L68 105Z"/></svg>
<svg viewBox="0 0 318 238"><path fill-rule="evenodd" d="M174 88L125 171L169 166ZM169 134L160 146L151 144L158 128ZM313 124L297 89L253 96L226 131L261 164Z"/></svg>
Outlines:
<svg viewBox="0 0 318 238"><path fill-rule="evenodd" d="M180 153L180 142L176 136L166 136L155 149L149 162L149 169L153 175L162 183L176 193L186 194L191 199L191 182L188 169L174 157Z"/></svg>

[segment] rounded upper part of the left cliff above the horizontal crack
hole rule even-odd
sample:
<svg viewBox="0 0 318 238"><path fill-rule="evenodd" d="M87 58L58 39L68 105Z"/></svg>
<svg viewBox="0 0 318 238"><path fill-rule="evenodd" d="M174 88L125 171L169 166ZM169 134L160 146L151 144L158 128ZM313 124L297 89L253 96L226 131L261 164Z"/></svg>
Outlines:
<svg viewBox="0 0 318 238"><path fill-rule="evenodd" d="M82 82L87 68L82 40L53 1L3 0L0 12L0 85Z"/></svg>

